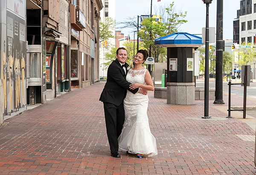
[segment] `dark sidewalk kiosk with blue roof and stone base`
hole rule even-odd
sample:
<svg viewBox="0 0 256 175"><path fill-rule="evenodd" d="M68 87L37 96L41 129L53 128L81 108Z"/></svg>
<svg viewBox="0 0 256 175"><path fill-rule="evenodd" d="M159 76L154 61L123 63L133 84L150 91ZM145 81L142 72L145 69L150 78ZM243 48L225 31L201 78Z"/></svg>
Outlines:
<svg viewBox="0 0 256 175"><path fill-rule="evenodd" d="M167 103L194 104L194 51L202 46L202 38L186 32L160 37L155 45L167 47Z"/></svg>

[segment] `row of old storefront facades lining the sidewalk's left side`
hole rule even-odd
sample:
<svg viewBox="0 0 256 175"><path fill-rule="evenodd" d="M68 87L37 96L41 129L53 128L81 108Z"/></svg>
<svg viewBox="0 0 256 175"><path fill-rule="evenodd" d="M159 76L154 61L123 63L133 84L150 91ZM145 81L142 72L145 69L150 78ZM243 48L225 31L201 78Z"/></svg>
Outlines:
<svg viewBox="0 0 256 175"><path fill-rule="evenodd" d="M1 0L0 8L0 122L99 81L101 0Z"/></svg>

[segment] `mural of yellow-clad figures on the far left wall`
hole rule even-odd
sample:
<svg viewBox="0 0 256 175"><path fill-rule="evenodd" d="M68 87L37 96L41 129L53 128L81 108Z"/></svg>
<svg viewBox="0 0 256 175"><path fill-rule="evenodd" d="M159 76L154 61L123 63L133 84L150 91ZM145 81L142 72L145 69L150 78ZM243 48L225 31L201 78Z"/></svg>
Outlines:
<svg viewBox="0 0 256 175"><path fill-rule="evenodd" d="M4 120L26 110L24 0L1 0L1 80Z"/></svg>

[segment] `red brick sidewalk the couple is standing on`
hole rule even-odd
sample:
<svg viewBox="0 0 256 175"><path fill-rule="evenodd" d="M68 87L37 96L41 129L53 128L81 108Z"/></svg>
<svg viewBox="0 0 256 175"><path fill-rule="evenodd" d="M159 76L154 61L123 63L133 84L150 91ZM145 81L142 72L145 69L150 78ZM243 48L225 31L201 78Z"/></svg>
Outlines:
<svg viewBox="0 0 256 175"><path fill-rule="evenodd" d="M213 100L212 119L201 119L204 100L168 105L153 92L148 117L158 155L138 159L119 151L121 158L112 158L99 101L104 85L77 89L6 120L9 124L0 129L0 174L256 174L255 132L247 124L226 118L212 107Z"/></svg>

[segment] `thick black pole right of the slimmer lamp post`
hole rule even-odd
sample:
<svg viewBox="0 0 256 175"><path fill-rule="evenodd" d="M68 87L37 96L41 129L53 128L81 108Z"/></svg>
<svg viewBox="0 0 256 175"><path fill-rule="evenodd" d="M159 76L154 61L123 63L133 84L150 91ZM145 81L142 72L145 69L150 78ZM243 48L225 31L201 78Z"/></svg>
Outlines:
<svg viewBox="0 0 256 175"><path fill-rule="evenodd" d="M223 0L217 0L216 27L216 79L214 104L225 104L223 101Z"/></svg>

